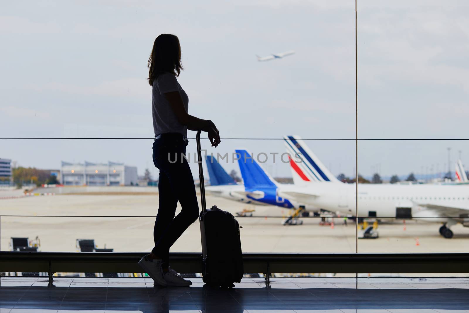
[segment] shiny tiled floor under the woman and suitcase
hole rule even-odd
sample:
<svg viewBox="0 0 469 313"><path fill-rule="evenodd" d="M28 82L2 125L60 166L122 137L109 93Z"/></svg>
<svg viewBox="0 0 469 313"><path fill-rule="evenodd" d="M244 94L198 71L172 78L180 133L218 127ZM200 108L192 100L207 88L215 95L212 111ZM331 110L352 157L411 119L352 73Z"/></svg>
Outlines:
<svg viewBox="0 0 469 313"><path fill-rule="evenodd" d="M244 278L228 290L153 288L147 278L2 277L0 313L468 312L468 278Z"/></svg>

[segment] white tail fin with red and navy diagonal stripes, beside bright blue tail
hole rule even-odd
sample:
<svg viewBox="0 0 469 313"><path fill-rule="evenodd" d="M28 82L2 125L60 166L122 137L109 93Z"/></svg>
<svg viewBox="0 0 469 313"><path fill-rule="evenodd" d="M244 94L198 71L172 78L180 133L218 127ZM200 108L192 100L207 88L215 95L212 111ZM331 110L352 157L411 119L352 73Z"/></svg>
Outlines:
<svg viewBox="0 0 469 313"><path fill-rule="evenodd" d="M340 182L308 148L301 137L285 136L284 140L287 152L291 155L290 166L295 183Z"/></svg>

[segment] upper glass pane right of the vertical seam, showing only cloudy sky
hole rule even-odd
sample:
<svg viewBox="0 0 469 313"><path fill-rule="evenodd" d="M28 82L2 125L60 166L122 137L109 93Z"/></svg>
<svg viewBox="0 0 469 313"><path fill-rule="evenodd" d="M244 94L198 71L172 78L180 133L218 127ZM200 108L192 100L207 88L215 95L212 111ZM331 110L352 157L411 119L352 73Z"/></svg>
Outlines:
<svg viewBox="0 0 469 313"><path fill-rule="evenodd" d="M467 2L357 6L358 137L466 137Z"/></svg>

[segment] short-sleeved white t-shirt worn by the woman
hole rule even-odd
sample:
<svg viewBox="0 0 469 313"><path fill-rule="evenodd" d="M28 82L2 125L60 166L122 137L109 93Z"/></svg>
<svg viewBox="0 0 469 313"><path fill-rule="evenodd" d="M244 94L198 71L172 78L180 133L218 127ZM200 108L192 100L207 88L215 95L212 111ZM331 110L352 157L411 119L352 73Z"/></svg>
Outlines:
<svg viewBox="0 0 469 313"><path fill-rule="evenodd" d="M178 83L176 76L172 73L160 74L153 80L151 91L151 112L153 115L153 130L155 137L165 133L181 133L187 138L187 127L182 125L176 118L164 93L176 92L181 94L182 102L186 112L189 110L189 97Z"/></svg>

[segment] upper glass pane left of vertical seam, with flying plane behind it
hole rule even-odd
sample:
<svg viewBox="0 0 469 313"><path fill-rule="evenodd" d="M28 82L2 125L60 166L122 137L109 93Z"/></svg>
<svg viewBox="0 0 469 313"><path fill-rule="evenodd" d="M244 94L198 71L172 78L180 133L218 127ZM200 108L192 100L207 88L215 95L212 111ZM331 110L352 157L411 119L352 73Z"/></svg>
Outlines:
<svg viewBox="0 0 469 313"><path fill-rule="evenodd" d="M160 32L180 39L185 71L178 79L189 113L211 117L223 137L354 130L354 11L347 1L115 3L111 16L105 3L90 11L81 3L12 2L3 11L3 134L151 137L146 63ZM26 72L31 84L19 83Z"/></svg>

